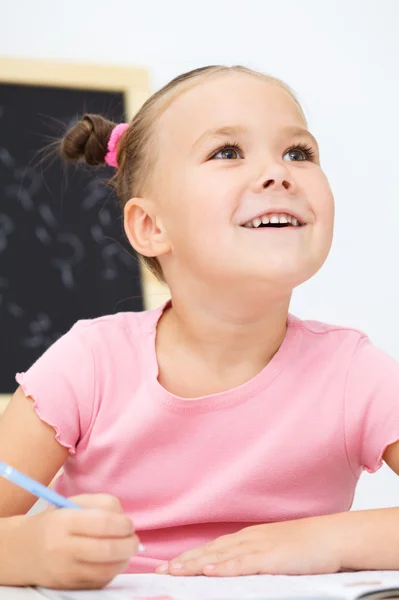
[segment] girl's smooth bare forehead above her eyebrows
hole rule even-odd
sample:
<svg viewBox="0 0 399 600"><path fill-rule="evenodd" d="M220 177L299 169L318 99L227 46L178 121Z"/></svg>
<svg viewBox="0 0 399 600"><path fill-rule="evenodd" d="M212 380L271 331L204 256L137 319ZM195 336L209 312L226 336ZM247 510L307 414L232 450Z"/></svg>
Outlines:
<svg viewBox="0 0 399 600"><path fill-rule="evenodd" d="M281 86L246 73L198 80L161 115L160 141L192 144L207 129L240 125L271 130L306 126L296 102Z"/></svg>

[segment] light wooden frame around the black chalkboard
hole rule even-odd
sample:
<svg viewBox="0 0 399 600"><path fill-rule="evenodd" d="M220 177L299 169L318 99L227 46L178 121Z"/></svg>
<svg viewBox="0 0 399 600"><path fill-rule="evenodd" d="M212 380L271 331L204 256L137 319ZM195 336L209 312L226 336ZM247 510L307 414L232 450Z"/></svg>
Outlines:
<svg viewBox="0 0 399 600"><path fill-rule="evenodd" d="M144 68L0 57L0 88L4 84L118 92L123 95L129 120L150 94L149 74ZM140 273L145 308L159 306L169 298L166 286L147 270ZM10 398L10 394L1 392L0 412Z"/></svg>

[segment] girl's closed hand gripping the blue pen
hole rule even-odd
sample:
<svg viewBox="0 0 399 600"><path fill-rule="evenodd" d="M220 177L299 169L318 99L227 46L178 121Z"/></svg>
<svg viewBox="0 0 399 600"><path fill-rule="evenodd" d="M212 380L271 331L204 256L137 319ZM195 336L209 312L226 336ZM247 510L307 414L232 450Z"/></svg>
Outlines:
<svg viewBox="0 0 399 600"><path fill-rule="evenodd" d="M12 542L18 543L25 584L101 588L137 552L139 539L117 498L90 494L72 500L83 510L50 508L21 517Z"/></svg>

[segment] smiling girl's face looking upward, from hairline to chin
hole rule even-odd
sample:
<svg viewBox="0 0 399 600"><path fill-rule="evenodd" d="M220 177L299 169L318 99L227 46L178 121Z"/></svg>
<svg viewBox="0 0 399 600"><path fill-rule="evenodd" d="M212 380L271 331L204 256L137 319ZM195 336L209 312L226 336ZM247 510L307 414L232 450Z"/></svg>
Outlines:
<svg viewBox="0 0 399 600"><path fill-rule="evenodd" d="M317 143L281 87L241 73L204 80L172 102L157 137L167 277L170 265L208 285L286 293L318 271L331 246L333 196Z"/></svg>

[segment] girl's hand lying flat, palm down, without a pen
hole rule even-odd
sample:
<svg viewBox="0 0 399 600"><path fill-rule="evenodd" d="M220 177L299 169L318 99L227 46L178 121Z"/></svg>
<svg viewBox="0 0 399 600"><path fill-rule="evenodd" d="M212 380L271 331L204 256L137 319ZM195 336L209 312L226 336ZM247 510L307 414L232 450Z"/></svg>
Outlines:
<svg viewBox="0 0 399 600"><path fill-rule="evenodd" d="M339 536L328 517L246 527L185 552L157 573L232 577L310 575L340 570Z"/></svg>

